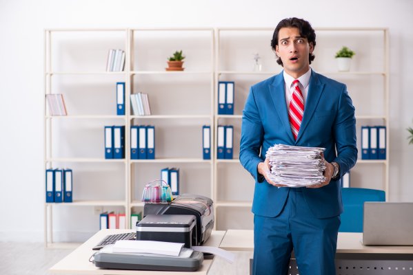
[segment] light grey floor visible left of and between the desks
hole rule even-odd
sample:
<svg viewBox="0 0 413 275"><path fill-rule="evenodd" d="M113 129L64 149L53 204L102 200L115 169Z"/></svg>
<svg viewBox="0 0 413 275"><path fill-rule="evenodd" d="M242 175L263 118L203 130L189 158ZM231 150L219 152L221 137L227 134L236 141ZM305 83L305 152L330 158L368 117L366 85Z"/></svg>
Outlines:
<svg viewBox="0 0 413 275"><path fill-rule="evenodd" d="M43 243L0 243L1 275L50 274L48 269L73 249L45 248ZM252 252L236 252L234 263L216 257L210 275L247 275Z"/></svg>

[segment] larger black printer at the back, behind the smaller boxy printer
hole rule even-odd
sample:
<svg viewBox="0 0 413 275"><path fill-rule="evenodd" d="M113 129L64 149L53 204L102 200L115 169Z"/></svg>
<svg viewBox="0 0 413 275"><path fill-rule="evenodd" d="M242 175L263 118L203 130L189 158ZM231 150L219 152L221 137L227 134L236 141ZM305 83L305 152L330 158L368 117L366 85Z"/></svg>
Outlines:
<svg viewBox="0 0 413 275"><path fill-rule="evenodd" d="M211 236L214 228L214 206L212 199L201 195L183 194L171 203L145 203L143 217L148 214L187 214L197 218L197 239L192 245L202 245Z"/></svg>

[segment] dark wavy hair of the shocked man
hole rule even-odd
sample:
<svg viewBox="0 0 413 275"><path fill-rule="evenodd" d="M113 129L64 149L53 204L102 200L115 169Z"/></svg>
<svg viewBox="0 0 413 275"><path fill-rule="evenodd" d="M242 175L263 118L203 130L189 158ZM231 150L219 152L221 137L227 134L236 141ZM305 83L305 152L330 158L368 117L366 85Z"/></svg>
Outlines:
<svg viewBox="0 0 413 275"><path fill-rule="evenodd" d="M276 26L274 30L274 34L272 35L272 41L271 41L271 47L272 50L275 51L275 46L278 45L278 34L281 28L297 28L299 29L300 35L303 36L305 39L308 40L308 43L312 43L312 47L316 47L316 32L314 32L314 29L311 27L310 23L308 21L305 21L304 19L298 19L296 17L292 18L286 18L280 21L278 25ZM310 52L308 59L310 61L314 60L316 56ZM281 61L281 58L277 58L276 63L279 63L279 65L283 66L283 61Z"/></svg>

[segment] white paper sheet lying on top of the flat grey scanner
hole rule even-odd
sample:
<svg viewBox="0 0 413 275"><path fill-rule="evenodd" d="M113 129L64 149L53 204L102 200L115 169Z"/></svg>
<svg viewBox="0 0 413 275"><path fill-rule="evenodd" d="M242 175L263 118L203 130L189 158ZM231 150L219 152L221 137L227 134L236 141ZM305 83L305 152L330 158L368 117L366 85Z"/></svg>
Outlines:
<svg viewBox="0 0 413 275"><path fill-rule="evenodd" d="M168 256L179 256L184 243L168 243L165 241L120 240L114 243L114 253L150 253Z"/></svg>

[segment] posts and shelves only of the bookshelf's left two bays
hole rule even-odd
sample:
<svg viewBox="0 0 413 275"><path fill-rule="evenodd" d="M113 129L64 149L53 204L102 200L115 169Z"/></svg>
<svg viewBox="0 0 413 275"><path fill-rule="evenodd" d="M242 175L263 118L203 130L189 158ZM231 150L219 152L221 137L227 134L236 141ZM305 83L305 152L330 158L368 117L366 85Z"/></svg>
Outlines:
<svg viewBox="0 0 413 275"><path fill-rule="evenodd" d="M52 69L52 34L55 32L125 32L125 68L123 72L54 72ZM209 70L199 71L199 72L165 72L165 71L133 71L134 67L134 38L133 34L135 31L148 31L148 32L205 32L205 34L210 36L210 64L207 67L210 67ZM157 159L130 159L130 126L132 125L133 120L144 119L150 120L152 122L157 120L197 120L197 119L206 119L209 120L211 130L214 129L214 29L212 28L125 28L125 29L49 29L44 32L44 94L52 93L52 76L54 75L79 75L79 76L93 76L93 75L120 75L124 76L125 82L125 115L66 115L66 116L53 116L48 115L47 106L45 100L43 100L44 107L44 169L46 170L54 163L59 162L77 162L77 163L122 163L125 166L125 199L123 200L93 200L93 201L79 201L74 199L72 203L45 203L44 204L44 242L46 247L52 246L55 247L53 241L53 228L52 228L52 211L54 207L74 207L74 206L122 206L125 209L125 214L128 219L126 219L126 226L130 228L130 214L132 208L134 207L143 207L141 201L132 200L132 192L134 189L134 180L133 180L133 165L139 165L142 163L146 164L159 164L159 163L205 163L209 164L210 168L210 192L213 194L214 190L214 170L213 170L213 158L205 160L202 158L193 158L193 157L179 157L179 158L157 158ZM130 94L132 94L132 81L135 75L168 75L168 76L208 76L210 83L210 111L205 115L132 115L131 106L130 106ZM107 119L117 119L122 121L121 123L125 125L125 158L124 159L104 159L95 158L95 157L52 157L52 120L68 120L68 119L79 119L79 120L107 120ZM201 125L200 125L201 129ZM200 130L201 131L201 130ZM211 133L211 137L213 132ZM212 154L214 153L214 146L211 144ZM201 151L201 150L200 150ZM43 177L43 182L45 183L44 189L46 189L46 175ZM43 201L46 201L46 195L43 197Z"/></svg>

